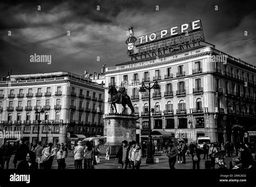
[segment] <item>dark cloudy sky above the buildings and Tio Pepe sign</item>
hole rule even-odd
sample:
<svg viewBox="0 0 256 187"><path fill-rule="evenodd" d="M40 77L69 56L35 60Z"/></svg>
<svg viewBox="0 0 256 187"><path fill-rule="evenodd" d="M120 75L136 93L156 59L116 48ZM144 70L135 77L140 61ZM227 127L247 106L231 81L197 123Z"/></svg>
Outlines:
<svg viewBox="0 0 256 187"><path fill-rule="evenodd" d="M100 72L103 63L111 67L130 60L125 44L129 27L139 37L197 19L206 41L256 66L254 1L15 2L0 3L0 76L8 69L12 74ZM51 64L31 63L30 55L35 53L51 55Z"/></svg>

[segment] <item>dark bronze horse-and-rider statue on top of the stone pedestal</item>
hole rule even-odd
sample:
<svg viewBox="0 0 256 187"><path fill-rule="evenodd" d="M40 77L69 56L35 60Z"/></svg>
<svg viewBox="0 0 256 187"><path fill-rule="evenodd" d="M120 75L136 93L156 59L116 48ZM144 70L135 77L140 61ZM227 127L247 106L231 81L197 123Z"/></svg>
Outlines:
<svg viewBox="0 0 256 187"><path fill-rule="evenodd" d="M119 91L117 91L114 85L110 85L108 93L111 96L111 109L113 110L113 106L114 106L114 109L116 110L115 113L117 113L116 104L122 104L124 107L122 114L124 114L126 111L126 105L129 106L129 108L131 109L132 111L131 114L134 114L134 108L132 106L131 98L125 92L124 87L120 88Z"/></svg>

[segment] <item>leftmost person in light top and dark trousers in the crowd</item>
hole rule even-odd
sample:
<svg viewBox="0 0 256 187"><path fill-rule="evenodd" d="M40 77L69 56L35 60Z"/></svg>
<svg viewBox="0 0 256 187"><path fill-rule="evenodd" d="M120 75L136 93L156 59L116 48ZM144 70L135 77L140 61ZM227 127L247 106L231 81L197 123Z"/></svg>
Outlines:
<svg viewBox="0 0 256 187"><path fill-rule="evenodd" d="M52 143L48 143L48 147L45 147L42 152L43 169L49 170L52 167L52 161L56 155L55 149L52 147Z"/></svg>

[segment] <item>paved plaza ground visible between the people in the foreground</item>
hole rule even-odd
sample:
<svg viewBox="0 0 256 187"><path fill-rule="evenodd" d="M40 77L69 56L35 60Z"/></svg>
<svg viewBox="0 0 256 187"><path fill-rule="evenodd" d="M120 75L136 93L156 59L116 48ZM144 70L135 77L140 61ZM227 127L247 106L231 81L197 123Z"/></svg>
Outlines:
<svg viewBox="0 0 256 187"><path fill-rule="evenodd" d="M201 156L200 169L205 169L205 160L203 160L202 157L203 156ZM159 159L159 163L154 163L154 164L146 164L146 158L143 158L142 164L140 165L140 169L170 169L168 157L165 154L154 156L155 162L156 162L156 158ZM232 160L232 158L233 157L225 158L225 162L226 162L228 168L230 167L230 161ZM11 157L9 169L14 169L13 164L12 164L13 159L14 159L14 155L12 155L12 157ZM83 161L83 164L84 164L84 161ZM176 169L192 169L192 166L193 166L192 157L186 156L185 164L176 162L174 167ZM58 164L57 164L57 159L55 157L55 159L53 160L53 163L52 163L52 169L57 169L57 168L58 168ZM217 166L215 166L215 168L217 168ZM66 158L66 169L75 169L72 152L69 152L68 157ZM118 164L117 160L110 159L107 161L102 156L102 157L100 157L100 163L98 163L95 166L95 169L121 169L121 168L120 168L120 164Z"/></svg>

